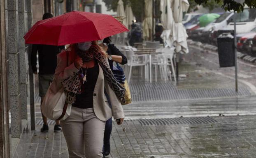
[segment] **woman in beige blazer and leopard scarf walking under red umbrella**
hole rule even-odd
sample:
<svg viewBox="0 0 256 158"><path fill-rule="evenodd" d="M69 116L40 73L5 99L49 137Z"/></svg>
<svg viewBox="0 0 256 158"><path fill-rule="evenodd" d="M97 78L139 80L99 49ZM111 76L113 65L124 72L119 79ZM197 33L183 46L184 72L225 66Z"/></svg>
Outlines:
<svg viewBox="0 0 256 158"><path fill-rule="evenodd" d="M72 103L70 117L61 121L70 158L102 158L105 122L114 116L122 124L125 89L114 78L97 41L72 44L58 54L51 89L61 86L66 103Z"/></svg>

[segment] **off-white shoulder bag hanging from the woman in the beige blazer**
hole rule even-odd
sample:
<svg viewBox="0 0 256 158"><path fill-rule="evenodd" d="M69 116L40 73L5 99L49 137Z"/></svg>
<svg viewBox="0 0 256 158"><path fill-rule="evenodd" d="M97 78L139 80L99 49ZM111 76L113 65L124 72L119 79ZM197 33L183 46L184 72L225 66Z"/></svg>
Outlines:
<svg viewBox="0 0 256 158"><path fill-rule="evenodd" d="M68 51L67 54L67 66L68 66ZM55 84L52 82L51 84ZM49 86L44 100L41 105L42 114L51 120L65 120L71 114L71 104L65 103L66 94L64 88L58 90L55 94L51 91L51 85Z"/></svg>

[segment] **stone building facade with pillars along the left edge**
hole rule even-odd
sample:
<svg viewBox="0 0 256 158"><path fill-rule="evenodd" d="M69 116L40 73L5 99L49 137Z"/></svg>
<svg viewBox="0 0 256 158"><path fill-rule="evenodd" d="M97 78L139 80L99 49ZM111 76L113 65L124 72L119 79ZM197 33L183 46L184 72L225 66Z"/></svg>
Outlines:
<svg viewBox="0 0 256 158"><path fill-rule="evenodd" d="M12 158L24 143L22 135L31 137L35 129L30 116L30 46L23 39L32 25L31 0L0 0L0 21L0 157Z"/></svg>

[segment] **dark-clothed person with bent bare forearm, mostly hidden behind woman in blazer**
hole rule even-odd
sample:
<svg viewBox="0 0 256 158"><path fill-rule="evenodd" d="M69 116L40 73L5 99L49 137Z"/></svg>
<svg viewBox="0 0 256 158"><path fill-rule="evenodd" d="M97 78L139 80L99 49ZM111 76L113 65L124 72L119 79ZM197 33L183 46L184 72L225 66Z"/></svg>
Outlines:
<svg viewBox="0 0 256 158"><path fill-rule="evenodd" d="M117 62L119 64L126 64L127 58L123 53L120 52L118 48L114 44L111 44L110 37L107 37L103 40L103 44L107 45L107 57L109 61L110 69L113 71L113 62ZM108 97L107 97L108 98ZM109 99L108 99L109 100ZM111 106L111 103L109 102ZM106 121L105 132L104 132L104 146L103 146L103 157L109 155L110 153L110 135L112 132L112 118Z"/></svg>

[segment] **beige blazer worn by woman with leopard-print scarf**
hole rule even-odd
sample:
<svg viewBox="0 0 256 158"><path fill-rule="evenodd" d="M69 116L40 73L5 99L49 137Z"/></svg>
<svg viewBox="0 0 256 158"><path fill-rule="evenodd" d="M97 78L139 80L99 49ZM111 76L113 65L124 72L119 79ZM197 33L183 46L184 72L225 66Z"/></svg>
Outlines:
<svg viewBox="0 0 256 158"><path fill-rule="evenodd" d="M68 62L67 62L67 52L68 52ZM57 67L54 74L54 81L53 81L53 84L51 84L51 90L54 93L61 88L62 86L61 82L65 80L65 78L79 71L74 66L74 60L76 58L77 58L77 54L72 53L70 51L64 50L58 54ZM106 61L107 61L107 58L106 58ZM67 66L67 64L69 66ZM109 95L112 108L109 107L107 97L104 94L104 89L106 89L106 92ZM103 70L100 65L99 65L98 79L93 92L93 110L96 117L98 117L98 119L102 121L106 121L112 116L114 116L114 119L124 118L122 105L119 99L116 97L116 94L114 93L114 91L110 88L109 84L104 79Z"/></svg>

